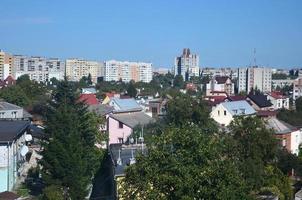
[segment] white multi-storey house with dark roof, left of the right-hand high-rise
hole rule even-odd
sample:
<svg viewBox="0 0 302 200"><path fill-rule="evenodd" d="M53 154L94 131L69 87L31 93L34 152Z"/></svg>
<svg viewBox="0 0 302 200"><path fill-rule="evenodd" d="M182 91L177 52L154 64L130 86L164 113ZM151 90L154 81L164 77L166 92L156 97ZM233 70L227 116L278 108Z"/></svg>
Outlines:
<svg viewBox="0 0 302 200"><path fill-rule="evenodd" d="M206 95L211 96L213 93L225 92L227 95L234 94L235 84L227 76L216 76L207 83Z"/></svg>

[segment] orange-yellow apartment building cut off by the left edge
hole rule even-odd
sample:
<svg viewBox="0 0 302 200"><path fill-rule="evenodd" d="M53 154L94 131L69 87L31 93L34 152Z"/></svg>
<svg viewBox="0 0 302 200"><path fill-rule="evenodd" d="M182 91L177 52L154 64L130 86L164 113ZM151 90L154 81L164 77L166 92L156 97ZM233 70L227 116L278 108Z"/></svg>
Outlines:
<svg viewBox="0 0 302 200"><path fill-rule="evenodd" d="M0 50L0 80L13 76L13 56Z"/></svg>

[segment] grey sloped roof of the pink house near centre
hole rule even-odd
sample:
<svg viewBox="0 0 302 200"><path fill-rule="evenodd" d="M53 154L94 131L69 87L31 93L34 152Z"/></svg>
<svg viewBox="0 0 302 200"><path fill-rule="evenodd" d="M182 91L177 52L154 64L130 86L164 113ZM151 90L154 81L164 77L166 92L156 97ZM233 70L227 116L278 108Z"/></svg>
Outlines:
<svg viewBox="0 0 302 200"><path fill-rule="evenodd" d="M130 128L134 128L137 125L146 125L154 122L152 117L143 112L111 114L110 117L122 122Z"/></svg>

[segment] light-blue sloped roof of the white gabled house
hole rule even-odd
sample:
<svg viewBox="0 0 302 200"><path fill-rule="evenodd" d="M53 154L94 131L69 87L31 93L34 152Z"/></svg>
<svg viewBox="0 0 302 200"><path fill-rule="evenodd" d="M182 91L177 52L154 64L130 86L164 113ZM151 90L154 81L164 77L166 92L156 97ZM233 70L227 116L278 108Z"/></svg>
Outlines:
<svg viewBox="0 0 302 200"><path fill-rule="evenodd" d="M245 100L223 102L221 105L226 108L233 116L252 115L255 114L255 109ZM244 113L242 112L244 111Z"/></svg>

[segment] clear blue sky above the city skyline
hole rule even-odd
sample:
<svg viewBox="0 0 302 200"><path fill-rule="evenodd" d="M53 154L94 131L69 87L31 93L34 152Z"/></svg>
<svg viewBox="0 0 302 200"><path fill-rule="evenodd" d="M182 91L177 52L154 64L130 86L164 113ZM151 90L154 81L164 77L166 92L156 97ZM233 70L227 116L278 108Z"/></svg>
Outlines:
<svg viewBox="0 0 302 200"><path fill-rule="evenodd" d="M183 48L201 67L302 66L301 0L1 0L12 54L152 62Z"/></svg>

